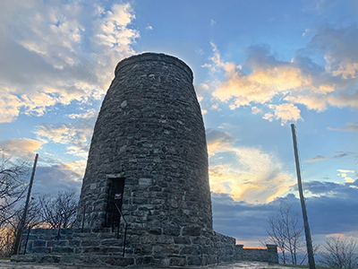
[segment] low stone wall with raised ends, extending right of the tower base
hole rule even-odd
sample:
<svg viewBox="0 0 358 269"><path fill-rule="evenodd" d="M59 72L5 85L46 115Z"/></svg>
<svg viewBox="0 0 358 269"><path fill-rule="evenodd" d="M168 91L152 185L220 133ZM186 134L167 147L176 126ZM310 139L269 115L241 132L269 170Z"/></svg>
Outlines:
<svg viewBox="0 0 358 269"><path fill-rule="evenodd" d="M278 264L277 246L266 245L266 248L244 248L243 245L236 245L235 260Z"/></svg>

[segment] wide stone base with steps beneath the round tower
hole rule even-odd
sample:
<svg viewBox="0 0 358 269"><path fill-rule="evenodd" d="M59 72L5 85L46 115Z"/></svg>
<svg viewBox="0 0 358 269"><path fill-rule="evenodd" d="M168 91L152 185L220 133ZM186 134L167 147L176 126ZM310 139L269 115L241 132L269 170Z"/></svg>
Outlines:
<svg viewBox="0 0 358 269"><path fill-rule="evenodd" d="M26 255L15 262L90 265L212 265L235 260L235 239L200 227L133 227L116 239L110 229L30 230ZM21 254L25 247L24 232Z"/></svg>

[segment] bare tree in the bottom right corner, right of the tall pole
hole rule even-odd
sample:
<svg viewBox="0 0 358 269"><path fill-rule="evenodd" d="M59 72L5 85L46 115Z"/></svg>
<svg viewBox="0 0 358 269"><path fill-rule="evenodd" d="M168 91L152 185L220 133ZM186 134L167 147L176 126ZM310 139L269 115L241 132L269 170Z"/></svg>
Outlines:
<svg viewBox="0 0 358 269"><path fill-rule="evenodd" d="M322 253L322 264L334 268L358 268L357 240L353 237L329 237L323 247L326 251Z"/></svg>

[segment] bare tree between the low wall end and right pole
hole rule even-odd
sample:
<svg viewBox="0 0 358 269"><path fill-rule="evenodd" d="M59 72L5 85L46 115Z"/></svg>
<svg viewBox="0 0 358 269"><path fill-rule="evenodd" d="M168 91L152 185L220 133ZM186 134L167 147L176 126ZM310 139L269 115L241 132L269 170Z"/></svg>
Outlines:
<svg viewBox="0 0 358 269"><path fill-rule="evenodd" d="M292 213L292 204L281 203L277 215L268 218L267 241L276 244L282 252L283 264L297 265L297 253L303 245L303 227L298 226L298 213Z"/></svg>

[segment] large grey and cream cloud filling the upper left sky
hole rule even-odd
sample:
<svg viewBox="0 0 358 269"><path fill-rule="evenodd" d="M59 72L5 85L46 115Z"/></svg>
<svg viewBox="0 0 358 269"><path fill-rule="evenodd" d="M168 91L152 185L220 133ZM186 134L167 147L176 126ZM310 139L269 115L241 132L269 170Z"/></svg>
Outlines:
<svg viewBox="0 0 358 269"><path fill-rule="evenodd" d="M4 1L0 11L0 122L56 104L99 100L139 37L130 4ZM21 18L21 20L13 20ZM92 23L93 22L93 23ZM89 42L90 41L90 42Z"/></svg>

